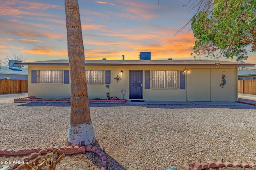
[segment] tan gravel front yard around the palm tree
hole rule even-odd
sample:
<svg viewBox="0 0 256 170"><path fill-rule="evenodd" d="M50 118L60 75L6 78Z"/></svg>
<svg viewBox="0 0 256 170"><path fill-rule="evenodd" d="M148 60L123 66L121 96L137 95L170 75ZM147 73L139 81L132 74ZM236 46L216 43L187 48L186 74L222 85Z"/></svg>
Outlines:
<svg viewBox="0 0 256 170"><path fill-rule="evenodd" d="M0 149L63 146L70 104L14 104L22 97L0 95ZM256 106L90 104L90 110L108 170L184 169L222 159L256 164ZM59 168L99 169L96 157L66 156Z"/></svg>

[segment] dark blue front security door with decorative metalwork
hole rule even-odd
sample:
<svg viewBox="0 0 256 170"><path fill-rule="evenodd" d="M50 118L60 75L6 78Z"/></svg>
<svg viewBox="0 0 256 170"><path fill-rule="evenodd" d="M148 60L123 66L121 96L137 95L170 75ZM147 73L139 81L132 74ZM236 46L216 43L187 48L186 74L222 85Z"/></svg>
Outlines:
<svg viewBox="0 0 256 170"><path fill-rule="evenodd" d="M130 70L129 99L143 99L143 70Z"/></svg>

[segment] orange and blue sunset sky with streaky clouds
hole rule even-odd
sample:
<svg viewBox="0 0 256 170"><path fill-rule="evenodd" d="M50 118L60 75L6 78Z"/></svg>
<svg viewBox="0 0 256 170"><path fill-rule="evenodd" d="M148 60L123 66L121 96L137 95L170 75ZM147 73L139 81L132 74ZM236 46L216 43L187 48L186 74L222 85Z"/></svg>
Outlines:
<svg viewBox="0 0 256 170"><path fill-rule="evenodd" d="M193 59L188 0L78 0L85 59ZM64 0L1 0L0 59L22 55L26 61L68 59ZM248 53L246 63L256 63ZM203 58L204 59L204 58ZM226 59L222 59L226 60Z"/></svg>

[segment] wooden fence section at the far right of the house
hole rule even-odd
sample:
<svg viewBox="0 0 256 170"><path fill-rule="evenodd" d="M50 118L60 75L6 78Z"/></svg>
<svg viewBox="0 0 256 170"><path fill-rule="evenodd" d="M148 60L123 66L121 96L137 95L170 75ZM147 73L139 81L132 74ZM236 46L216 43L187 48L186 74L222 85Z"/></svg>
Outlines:
<svg viewBox="0 0 256 170"><path fill-rule="evenodd" d="M238 93L256 95L256 80L238 80Z"/></svg>

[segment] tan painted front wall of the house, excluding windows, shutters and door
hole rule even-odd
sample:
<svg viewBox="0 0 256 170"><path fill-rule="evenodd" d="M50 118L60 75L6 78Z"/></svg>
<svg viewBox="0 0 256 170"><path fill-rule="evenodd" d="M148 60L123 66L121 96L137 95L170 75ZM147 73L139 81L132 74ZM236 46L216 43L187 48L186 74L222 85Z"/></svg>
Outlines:
<svg viewBox="0 0 256 170"><path fill-rule="evenodd" d="M143 80L145 79L144 70L150 70L152 78L153 70L174 70L186 72L186 88L144 88L142 100L160 101L212 101L212 102L236 102L237 97L237 67L236 66L86 66L86 70L111 70L110 87L106 88L105 75L103 84L88 84L88 97L106 99L109 92L110 97L116 96L119 99L129 99L129 70L143 70ZM69 70L69 66L28 66L28 96L37 98L70 98L70 84L58 83L31 83L31 70ZM120 71L123 75L120 75ZM180 74L180 72L178 73ZM222 74L226 75L226 84L222 88ZM116 76L121 78L116 82ZM179 81L178 81L179 82ZM121 90L125 89L123 96Z"/></svg>

